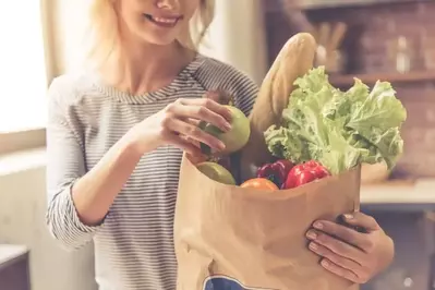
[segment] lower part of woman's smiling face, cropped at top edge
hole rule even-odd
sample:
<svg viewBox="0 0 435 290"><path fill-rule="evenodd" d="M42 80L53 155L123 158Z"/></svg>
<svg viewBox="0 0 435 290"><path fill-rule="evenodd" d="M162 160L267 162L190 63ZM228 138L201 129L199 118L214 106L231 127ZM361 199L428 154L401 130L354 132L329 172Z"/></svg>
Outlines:
<svg viewBox="0 0 435 290"><path fill-rule="evenodd" d="M118 0L121 25L141 40L169 45L177 39L201 0Z"/></svg>

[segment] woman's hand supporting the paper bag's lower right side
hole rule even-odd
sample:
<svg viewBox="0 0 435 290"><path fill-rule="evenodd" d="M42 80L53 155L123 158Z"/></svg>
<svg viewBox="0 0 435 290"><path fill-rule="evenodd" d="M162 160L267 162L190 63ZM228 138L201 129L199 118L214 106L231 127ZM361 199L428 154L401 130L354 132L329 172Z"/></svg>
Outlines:
<svg viewBox="0 0 435 290"><path fill-rule="evenodd" d="M394 258L394 242L376 220L362 213L345 215L349 227L318 220L307 231L309 249L322 256L322 266L355 283L365 283L384 270Z"/></svg>

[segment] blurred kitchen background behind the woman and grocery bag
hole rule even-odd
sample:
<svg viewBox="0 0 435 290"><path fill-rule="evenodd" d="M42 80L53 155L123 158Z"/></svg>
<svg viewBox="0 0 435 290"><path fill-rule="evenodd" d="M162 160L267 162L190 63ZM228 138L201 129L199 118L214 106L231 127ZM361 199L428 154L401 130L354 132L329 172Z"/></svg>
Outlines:
<svg viewBox="0 0 435 290"><path fill-rule="evenodd" d="M0 290L96 289L92 245L64 252L48 235L44 217L45 90L52 77L80 69L89 2L2 4ZM406 152L392 172L364 168L361 209L394 237L397 256L363 290L435 289L434 15L431 0L216 0L201 48L261 85L285 41L310 32L319 45L317 64L334 85L346 89L354 76L370 85L392 83L408 109ZM16 88L28 94L17 98Z"/></svg>

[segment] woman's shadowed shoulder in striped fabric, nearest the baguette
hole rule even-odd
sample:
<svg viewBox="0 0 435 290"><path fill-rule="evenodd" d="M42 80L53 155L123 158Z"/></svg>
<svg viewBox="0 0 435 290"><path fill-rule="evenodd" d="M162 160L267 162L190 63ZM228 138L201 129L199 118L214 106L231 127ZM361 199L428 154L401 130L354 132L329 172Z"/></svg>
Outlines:
<svg viewBox="0 0 435 290"><path fill-rule="evenodd" d="M219 60L202 56L194 77L205 90L225 90L234 97L235 106L249 114L258 94L258 85L244 72Z"/></svg>

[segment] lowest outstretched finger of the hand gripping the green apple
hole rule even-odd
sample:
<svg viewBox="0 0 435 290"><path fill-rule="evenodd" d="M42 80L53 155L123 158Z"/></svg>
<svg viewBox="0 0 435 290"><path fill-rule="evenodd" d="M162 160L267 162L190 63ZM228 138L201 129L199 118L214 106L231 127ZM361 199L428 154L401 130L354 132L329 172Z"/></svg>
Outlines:
<svg viewBox="0 0 435 290"><path fill-rule="evenodd" d="M225 149L225 144L217 137L204 132L198 126L183 122L179 119L168 119L166 126L173 132L185 135L194 141L207 144L209 147L217 150ZM192 144L190 142L190 144Z"/></svg>

